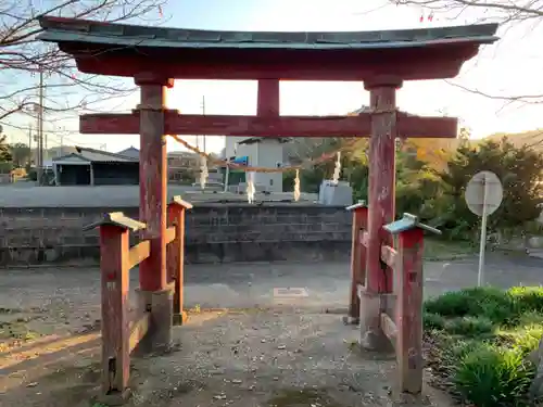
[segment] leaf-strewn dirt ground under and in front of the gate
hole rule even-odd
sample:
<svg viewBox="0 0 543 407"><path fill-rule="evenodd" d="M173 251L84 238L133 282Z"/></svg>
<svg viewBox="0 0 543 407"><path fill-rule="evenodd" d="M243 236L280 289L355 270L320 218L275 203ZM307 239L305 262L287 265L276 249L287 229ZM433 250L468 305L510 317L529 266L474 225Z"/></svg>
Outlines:
<svg viewBox="0 0 543 407"><path fill-rule="evenodd" d="M388 406L393 355L361 353L357 334L311 308L192 314L175 330L175 351L134 359L127 405ZM0 405L92 406L98 356L97 333L18 348L0 359ZM435 393L424 405L432 400L443 406Z"/></svg>

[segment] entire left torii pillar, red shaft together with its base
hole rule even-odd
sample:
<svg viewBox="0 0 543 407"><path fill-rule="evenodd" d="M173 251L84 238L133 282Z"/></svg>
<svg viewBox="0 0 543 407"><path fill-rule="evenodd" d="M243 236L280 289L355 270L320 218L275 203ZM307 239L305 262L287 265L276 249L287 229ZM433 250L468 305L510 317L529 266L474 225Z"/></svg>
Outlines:
<svg viewBox="0 0 543 407"><path fill-rule="evenodd" d="M140 86L139 109L139 220L141 239L151 242L150 256L139 266L139 304L151 310L150 344L169 346L173 323L173 287L166 270L167 151L164 127L166 90L174 79L155 74L135 77Z"/></svg>

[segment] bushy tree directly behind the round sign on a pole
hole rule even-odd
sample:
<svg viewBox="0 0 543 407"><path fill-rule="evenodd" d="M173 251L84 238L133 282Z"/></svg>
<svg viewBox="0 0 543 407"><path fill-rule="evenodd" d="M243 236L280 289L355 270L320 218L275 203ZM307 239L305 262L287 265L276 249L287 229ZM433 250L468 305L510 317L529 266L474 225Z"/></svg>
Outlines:
<svg viewBox="0 0 543 407"><path fill-rule="evenodd" d="M440 174L442 193L429 203L432 211L426 216L432 216L434 225L455 230L456 234L472 234L480 219L468 209L464 193L470 178L481 170L495 173L504 187L502 205L489 217L491 229L522 227L540 215L543 154L528 145L515 148L504 138L500 142L459 147L447 170Z"/></svg>

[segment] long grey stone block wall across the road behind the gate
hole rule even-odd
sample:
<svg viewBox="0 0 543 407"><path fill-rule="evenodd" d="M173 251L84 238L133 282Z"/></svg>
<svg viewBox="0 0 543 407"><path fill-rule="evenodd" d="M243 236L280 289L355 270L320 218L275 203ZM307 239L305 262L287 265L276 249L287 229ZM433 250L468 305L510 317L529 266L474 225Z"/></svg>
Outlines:
<svg viewBox="0 0 543 407"><path fill-rule="evenodd" d="M98 233L83 227L113 211L138 217L136 207L0 208L0 266L96 263ZM343 207L201 204L187 216L188 263L346 258L350 242Z"/></svg>

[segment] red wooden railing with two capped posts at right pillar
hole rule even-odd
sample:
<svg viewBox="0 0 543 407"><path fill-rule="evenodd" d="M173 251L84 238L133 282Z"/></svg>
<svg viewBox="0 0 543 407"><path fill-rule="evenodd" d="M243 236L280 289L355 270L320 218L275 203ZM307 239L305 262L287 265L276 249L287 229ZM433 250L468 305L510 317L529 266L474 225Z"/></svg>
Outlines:
<svg viewBox="0 0 543 407"><path fill-rule="evenodd" d="M350 318L356 320L361 313L366 277L366 252L368 246L368 211L364 203L350 206L353 211L352 283ZM424 231L441 232L418 218L404 214L403 218L383 226L394 237L394 246L381 245L380 258L393 270L393 293L380 293L381 304L379 320L382 333L394 347L399 370L399 390L417 394L422 389L422 253ZM353 298L356 293L356 298ZM387 298L392 297L394 308L387 307ZM358 307L355 310L355 307ZM368 310L366 310L368 311Z"/></svg>

